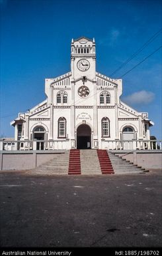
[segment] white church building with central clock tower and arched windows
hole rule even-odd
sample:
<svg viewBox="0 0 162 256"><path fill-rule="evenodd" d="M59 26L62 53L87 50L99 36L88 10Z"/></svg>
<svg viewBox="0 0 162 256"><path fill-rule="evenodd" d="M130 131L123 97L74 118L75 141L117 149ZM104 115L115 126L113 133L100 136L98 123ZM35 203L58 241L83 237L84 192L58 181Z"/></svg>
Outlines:
<svg viewBox="0 0 162 256"><path fill-rule="evenodd" d="M120 100L121 79L97 72L95 39L72 39L71 71L47 78L45 93L44 102L11 122L15 140L30 141L30 149L33 141L37 150L108 149L118 142L135 149L138 140L149 140L148 114Z"/></svg>

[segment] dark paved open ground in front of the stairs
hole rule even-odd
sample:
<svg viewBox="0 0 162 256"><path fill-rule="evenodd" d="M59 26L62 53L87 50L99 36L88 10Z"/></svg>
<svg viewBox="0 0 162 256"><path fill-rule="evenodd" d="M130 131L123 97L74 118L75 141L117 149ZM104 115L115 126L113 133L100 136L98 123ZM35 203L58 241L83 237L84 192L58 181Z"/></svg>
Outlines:
<svg viewBox="0 0 162 256"><path fill-rule="evenodd" d="M1 247L161 247L161 172L1 172Z"/></svg>

